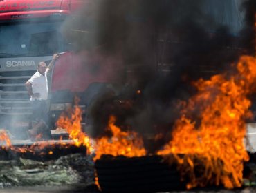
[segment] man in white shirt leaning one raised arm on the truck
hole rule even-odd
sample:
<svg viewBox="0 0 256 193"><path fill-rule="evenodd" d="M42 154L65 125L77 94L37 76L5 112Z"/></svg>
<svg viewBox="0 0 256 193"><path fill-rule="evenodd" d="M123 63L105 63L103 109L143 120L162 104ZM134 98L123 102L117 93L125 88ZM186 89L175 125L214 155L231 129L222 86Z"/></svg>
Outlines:
<svg viewBox="0 0 256 193"><path fill-rule="evenodd" d="M48 99L47 73L53 68L53 64L58 57L58 54L53 54L53 59L48 66L44 62L39 62L37 72L25 83L33 108L31 117L32 128L28 130L28 135L33 141L51 139L46 104Z"/></svg>

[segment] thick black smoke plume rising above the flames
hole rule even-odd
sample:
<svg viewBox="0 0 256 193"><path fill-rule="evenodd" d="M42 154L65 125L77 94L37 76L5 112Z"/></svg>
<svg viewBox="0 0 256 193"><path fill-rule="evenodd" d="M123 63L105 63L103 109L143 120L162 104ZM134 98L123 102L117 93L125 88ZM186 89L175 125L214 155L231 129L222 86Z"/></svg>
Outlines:
<svg viewBox="0 0 256 193"><path fill-rule="evenodd" d="M196 92L193 81L209 79L228 70L239 55L252 54L255 1L241 7L246 25L239 35L208 12L212 6L229 8L228 2L235 1L96 0L82 10L84 17L67 21L64 34L77 52L118 52L130 72L120 74L118 95L105 90L93 101L93 136L104 133L110 114L124 130L147 137L170 132L180 116L177 104Z"/></svg>

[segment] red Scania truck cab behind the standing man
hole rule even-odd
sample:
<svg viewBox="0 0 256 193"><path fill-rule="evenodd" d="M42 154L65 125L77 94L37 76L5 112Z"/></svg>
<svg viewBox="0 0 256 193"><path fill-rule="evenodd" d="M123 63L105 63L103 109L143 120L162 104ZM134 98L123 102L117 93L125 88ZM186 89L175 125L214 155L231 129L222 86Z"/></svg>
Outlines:
<svg viewBox="0 0 256 193"><path fill-rule="evenodd" d="M49 110L54 123L73 96L81 98L81 108L103 88L113 89L122 63L104 57L97 49L70 51L70 42L62 34L67 19L80 17L86 0L8 0L0 1L0 123L18 137L28 128L30 101L24 83L35 73L37 63L49 63L61 53L49 74ZM79 33L81 29L70 29ZM96 59L97 58L97 59ZM118 76L117 76L118 75ZM114 91L116 92L116 90ZM17 130L16 130L17 129Z"/></svg>

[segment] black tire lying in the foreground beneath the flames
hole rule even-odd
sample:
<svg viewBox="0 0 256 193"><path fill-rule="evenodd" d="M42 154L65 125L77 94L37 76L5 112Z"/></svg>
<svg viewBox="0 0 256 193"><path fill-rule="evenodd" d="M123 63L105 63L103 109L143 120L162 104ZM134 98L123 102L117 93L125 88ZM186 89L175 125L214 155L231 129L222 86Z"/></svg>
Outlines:
<svg viewBox="0 0 256 193"><path fill-rule="evenodd" d="M175 165L161 156L127 158L102 156L95 162L98 183L104 192L157 192L184 190Z"/></svg>

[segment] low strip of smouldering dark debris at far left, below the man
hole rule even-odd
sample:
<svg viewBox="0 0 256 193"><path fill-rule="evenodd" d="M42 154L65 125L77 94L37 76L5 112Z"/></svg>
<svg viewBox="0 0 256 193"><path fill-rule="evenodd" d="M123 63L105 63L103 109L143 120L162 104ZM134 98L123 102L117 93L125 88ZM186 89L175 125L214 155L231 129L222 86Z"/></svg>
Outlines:
<svg viewBox="0 0 256 193"><path fill-rule="evenodd" d="M13 142L13 143L12 143ZM11 140L6 130L1 130L0 135L0 159L33 159L37 161L48 161L58 159L71 153L86 155L86 147L77 145L71 140L37 141Z"/></svg>

